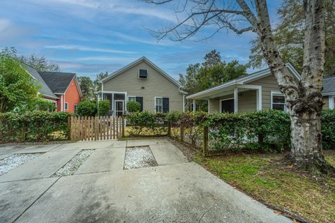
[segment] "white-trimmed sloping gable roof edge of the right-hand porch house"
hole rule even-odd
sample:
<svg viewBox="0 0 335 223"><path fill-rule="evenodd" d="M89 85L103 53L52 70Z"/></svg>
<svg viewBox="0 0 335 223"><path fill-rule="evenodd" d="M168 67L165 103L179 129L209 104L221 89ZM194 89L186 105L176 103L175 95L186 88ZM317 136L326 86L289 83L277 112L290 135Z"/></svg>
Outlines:
<svg viewBox="0 0 335 223"><path fill-rule="evenodd" d="M288 68L288 70L292 73L292 75L294 77L296 77L298 80L301 79L301 77L299 75L299 72L297 72L297 70L295 70L295 68L292 66L292 64L285 63L285 66ZM234 86L235 84L248 84L249 82L253 82L257 79L261 79L261 78L267 77L269 75L271 75L271 70L269 68L267 68L267 69L264 69L264 70L260 70L258 72L253 72L250 75L246 75L244 77L239 77L237 79L232 79L229 82L225 82L225 83L220 84L218 86L215 86L211 89L206 89L204 91L194 93L193 95L188 95L186 98L187 99L192 99L194 97L199 97L199 96L202 96L202 95L208 95L211 92L215 92L215 91L218 91L220 89L225 89L228 86Z"/></svg>

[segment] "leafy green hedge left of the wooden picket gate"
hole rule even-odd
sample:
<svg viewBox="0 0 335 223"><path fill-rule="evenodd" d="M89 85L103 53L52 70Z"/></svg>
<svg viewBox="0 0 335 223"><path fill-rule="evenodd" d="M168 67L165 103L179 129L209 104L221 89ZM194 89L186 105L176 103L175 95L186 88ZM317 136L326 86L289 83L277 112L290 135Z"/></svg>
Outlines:
<svg viewBox="0 0 335 223"><path fill-rule="evenodd" d="M0 113L0 141L49 141L66 139L67 112L34 111Z"/></svg>

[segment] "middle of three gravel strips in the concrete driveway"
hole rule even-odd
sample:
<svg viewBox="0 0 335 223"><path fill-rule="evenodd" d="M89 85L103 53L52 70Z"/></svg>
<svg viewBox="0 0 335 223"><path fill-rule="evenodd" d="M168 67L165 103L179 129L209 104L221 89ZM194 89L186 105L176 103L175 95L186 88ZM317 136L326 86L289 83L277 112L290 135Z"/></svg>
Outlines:
<svg viewBox="0 0 335 223"><path fill-rule="evenodd" d="M51 177L59 176L70 176L75 174L75 171L82 165L82 163L87 160L87 158L93 153L94 149L85 149L77 153L70 161L57 170L56 173L52 174Z"/></svg>

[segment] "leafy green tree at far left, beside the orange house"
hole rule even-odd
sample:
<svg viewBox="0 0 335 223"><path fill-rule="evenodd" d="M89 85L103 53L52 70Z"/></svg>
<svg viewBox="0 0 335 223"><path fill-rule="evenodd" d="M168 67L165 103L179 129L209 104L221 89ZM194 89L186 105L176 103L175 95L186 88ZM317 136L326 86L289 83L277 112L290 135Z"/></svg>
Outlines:
<svg viewBox="0 0 335 223"><path fill-rule="evenodd" d="M31 107L38 99L38 83L15 58L14 48L0 53L0 112Z"/></svg>

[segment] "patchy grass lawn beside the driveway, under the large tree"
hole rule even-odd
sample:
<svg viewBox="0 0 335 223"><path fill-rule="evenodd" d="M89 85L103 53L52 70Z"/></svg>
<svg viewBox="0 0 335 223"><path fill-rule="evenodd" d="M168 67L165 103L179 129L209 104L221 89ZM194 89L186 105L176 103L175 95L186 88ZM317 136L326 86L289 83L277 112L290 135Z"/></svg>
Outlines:
<svg viewBox="0 0 335 223"><path fill-rule="evenodd" d="M193 155L193 160L233 187L263 203L289 210L311 222L335 222L335 178L293 171L283 154L224 157ZM335 151L325 151L335 166Z"/></svg>

